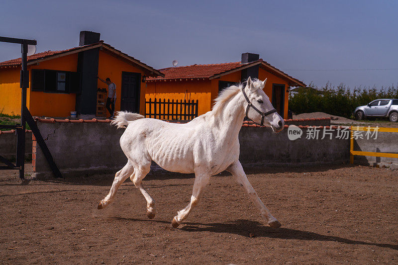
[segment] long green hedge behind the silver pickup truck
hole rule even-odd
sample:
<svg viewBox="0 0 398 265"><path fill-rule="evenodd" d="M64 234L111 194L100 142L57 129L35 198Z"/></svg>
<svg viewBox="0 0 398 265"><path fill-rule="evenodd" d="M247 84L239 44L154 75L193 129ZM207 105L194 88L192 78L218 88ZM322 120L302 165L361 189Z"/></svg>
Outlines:
<svg viewBox="0 0 398 265"><path fill-rule="evenodd" d="M289 109L295 114L320 111L352 118L352 112L357 106L366 105L378 98L398 98L398 87L394 85L387 89L359 87L351 90L344 84L331 87L330 83L327 83L318 89L311 83L306 88L289 92Z"/></svg>

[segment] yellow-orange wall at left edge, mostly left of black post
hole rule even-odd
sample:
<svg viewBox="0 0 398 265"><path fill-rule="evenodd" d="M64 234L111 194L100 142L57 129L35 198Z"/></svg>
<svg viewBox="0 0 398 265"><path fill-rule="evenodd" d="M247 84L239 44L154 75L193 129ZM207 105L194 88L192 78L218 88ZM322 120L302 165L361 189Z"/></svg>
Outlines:
<svg viewBox="0 0 398 265"><path fill-rule="evenodd" d="M21 114L20 67L0 69L0 113ZM29 107L29 89L26 105Z"/></svg>

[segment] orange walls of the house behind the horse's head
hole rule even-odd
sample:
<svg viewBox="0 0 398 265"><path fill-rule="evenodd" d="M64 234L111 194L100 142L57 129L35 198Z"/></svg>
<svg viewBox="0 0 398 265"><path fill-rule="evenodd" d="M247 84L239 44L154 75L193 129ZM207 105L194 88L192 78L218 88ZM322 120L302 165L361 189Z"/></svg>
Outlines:
<svg viewBox="0 0 398 265"><path fill-rule="evenodd" d="M272 102L272 84L284 84L286 88L289 88L288 83L283 79L272 75L271 73L259 69L259 79L264 80L267 78L267 83L264 88L264 92L268 95ZM157 99L198 99L198 114L201 115L209 111L213 105L213 100L218 96L218 82L227 81L239 83L241 81L241 71L237 71L217 79L212 80L190 80L183 79L173 81L157 81L147 82L147 89L145 93L146 100L151 98L152 100L156 97ZM187 94L185 95L185 93ZM147 106L147 111L149 108ZM285 109L284 117L288 115L288 93L285 92Z"/></svg>

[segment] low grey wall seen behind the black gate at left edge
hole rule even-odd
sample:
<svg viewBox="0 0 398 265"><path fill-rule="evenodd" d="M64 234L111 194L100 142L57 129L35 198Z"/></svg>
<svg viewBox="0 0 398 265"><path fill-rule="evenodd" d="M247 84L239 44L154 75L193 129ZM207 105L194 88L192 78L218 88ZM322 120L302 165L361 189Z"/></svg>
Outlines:
<svg viewBox="0 0 398 265"><path fill-rule="evenodd" d="M27 132L25 137L25 159L32 159L32 132ZM15 160L16 133L0 134L0 155L8 160Z"/></svg>

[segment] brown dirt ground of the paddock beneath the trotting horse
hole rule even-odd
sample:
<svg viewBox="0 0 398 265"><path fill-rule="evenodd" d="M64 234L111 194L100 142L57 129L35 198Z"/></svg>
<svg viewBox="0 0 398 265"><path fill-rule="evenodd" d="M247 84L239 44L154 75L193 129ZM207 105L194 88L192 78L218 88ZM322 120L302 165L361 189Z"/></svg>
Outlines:
<svg viewBox="0 0 398 265"><path fill-rule="evenodd" d="M20 181L0 177L3 264L376 264L398 263L398 172L364 166L246 169L282 223L264 225L227 174L212 177L178 229L192 175L144 180L158 213L127 180L108 208L97 204L113 176Z"/></svg>

